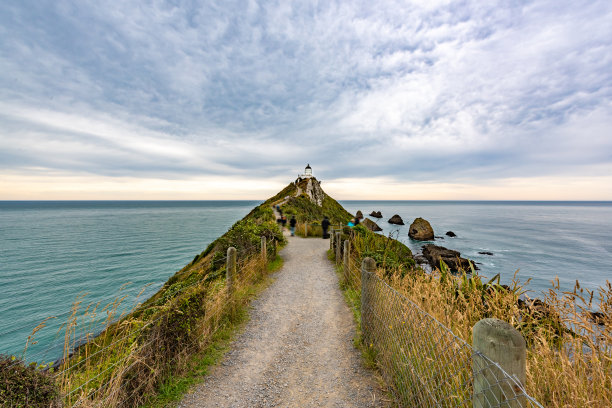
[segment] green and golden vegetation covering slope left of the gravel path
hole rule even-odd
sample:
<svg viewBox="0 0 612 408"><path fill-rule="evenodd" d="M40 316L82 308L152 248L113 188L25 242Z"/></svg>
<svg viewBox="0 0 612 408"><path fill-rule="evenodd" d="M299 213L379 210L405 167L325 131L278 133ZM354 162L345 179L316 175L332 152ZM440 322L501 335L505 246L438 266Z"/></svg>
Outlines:
<svg viewBox="0 0 612 408"><path fill-rule="evenodd" d="M267 256L261 255L266 237ZM65 325L64 361L56 380L71 406L138 406L160 391L165 397L184 390L222 349L224 338L244 320L246 304L279 266L277 249L286 243L272 208L262 204L174 276L151 298L124 317L117 299L103 310L74 306ZM225 282L227 249L237 249L238 265L231 290ZM107 328L74 348L77 329L106 313ZM191 374L190 374L191 373Z"/></svg>

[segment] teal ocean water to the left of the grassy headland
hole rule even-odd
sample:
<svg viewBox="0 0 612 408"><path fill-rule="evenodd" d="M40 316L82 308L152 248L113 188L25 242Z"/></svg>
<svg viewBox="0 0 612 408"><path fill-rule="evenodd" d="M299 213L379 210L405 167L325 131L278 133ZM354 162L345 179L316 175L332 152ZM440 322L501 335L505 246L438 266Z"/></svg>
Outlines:
<svg viewBox="0 0 612 408"><path fill-rule="evenodd" d="M121 310L129 309L256 205L0 202L0 353L21 355L32 330L56 316L36 334L26 355L30 361L56 359L63 344L58 330L77 296L82 296L81 310L118 296L127 296Z"/></svg>

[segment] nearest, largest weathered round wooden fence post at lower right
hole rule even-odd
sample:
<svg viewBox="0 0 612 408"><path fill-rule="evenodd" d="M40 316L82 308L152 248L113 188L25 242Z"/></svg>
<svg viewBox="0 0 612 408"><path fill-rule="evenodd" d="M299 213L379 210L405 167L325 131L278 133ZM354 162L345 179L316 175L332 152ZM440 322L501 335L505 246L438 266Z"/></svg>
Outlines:
<svg viewBox="0 0 612 408"><path fill-rule="evenodd" d="M491 403L507 407L525 406L525 358L527 348L525 339L512 325L499 319L482 319L472 329L474 355L474 408L489 407ZM512 380L504 380L504 375L482 356L497 363Z"/></svg>

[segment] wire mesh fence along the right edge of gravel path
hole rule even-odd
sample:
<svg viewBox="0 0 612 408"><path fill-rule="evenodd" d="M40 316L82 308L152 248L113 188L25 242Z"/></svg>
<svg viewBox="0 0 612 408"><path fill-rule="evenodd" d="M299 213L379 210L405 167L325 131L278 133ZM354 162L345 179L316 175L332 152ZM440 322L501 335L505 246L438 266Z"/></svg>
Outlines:
<svg viewBox="0 0 612 408"><path fill-rule="evenodd" d="M510 325L509 329L503 326L506 331L501 340L496 337L498 332L485 333L484 343L498 347L496 355L504 366L517 361L520 366L523 353L523 366L518 367L519 374L512 375L483 353L490 350L475 350L389 286L376 274L374 260L366 258L358 265L359 260L350 254L350 240L342 241L339 231L334 232L331 249L336 263L342 264L344 282L361 293L364 347L374 357L399 406L541 407L522 385L524 340L517 341L523 341L522 350L520 344L509 341L507 330L514 330Z"/></svg>

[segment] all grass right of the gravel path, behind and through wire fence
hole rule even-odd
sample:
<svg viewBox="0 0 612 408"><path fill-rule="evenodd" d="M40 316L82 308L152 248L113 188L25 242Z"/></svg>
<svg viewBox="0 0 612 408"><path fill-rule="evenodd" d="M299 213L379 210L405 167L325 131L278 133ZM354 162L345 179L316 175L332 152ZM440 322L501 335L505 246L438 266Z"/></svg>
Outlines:
<svg viewBox="0 0 612 408"><path fill-rule="evenodd" d="M524 385L538 402L555 407L612 406L609 282L594 292L578 283L573 291L561 291L558 282L553 282L541 300L523 300L528 282L515 279L503 286L499 277L487 280L474 271L451 274L444 267L425 273L402 262L395 250L381 251L380 238L371 235L359 232L348 237L351 262L342 276L345 285L355 291L349 297L355 302L361 287L360 262L378 253L376 274L397 293L391 295L382 283L377 286L374 293L378 298L372 307L379 317L370 324L373 355L387 373L385 378L398 401L410 406L431 398L432 392L458 389L457 380L472 375L470 364L462 367L461 363L470 361L470 350L453 337L471 344L474 324L495 317L512 324L526 339ZM332 251L329 254L334 255ZM593 310L601 313L598 321L593 319ZM454 336L442 330L434 318ZM470 406L469 397L468 392L463 397L448 394L440 398L451 399L451 405L456 402L453 398L463 398L459 405Z"/></svg>

